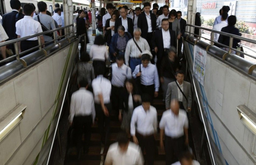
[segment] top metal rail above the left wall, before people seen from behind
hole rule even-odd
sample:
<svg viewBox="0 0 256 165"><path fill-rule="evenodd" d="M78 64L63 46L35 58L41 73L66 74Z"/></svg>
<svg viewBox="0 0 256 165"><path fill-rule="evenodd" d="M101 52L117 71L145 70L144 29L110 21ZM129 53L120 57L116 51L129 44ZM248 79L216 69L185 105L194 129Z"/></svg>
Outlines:
<svg viewBox="0 0 256 165"><path fill-rule="evenodd" d="M58 28L55 28L55 29L52 29L52 30L48 30L48 31L45 31L45 32L41 32L41 33L25 36L25 37L22 37L22 38L10 40L10 41L5 41L5 42L0 43L0 47L7 46L9 44L13 44L13 43L16 43L16 42L24 41L24 40L27 40L27 39L31 39L31 38L34 38L34 37L38 37L40 35L48 34L48 33L51 33L51 32L58 31L58 30L62 30L64 28L71 27L71 26L73 26L73 24L70 24L70 25L67 25L67 26L63 26L63 27L58 27Z"/></svg>

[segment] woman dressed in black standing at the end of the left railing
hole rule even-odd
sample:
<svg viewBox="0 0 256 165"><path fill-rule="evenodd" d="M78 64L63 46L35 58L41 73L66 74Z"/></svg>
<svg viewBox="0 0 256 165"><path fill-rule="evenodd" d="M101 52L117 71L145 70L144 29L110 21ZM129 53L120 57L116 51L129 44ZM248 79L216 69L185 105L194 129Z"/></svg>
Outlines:
<svg viewBox="0 0 256 165"><path fill-rule="evenodd" d="M84 18L85 18L85 11L79 10L78 11L78 16L76 18L77 19L77 36L82 35L82 34L86 34L86 41L85 41L84 37L82 37L81 40L79 41L81 43L80 52L84 52L85 51L85 43L86 44L89 43Z"/></svg>

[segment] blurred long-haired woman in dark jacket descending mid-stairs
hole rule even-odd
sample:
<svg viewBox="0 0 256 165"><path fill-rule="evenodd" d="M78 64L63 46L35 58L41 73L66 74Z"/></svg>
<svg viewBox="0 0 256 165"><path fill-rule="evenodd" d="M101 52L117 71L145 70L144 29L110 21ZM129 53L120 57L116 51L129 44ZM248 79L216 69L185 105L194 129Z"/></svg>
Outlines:
<svg viewBox="0 0 256 165"><path fill-rule="evenodd" d="M136 92L136 86L133 79L125 81L125 88L120 98L119 105L119 120L122 121L121 129L130 135L130 124L133 110L141 105L141 97ZM122 116L123 112L123 116Z"/></svg>

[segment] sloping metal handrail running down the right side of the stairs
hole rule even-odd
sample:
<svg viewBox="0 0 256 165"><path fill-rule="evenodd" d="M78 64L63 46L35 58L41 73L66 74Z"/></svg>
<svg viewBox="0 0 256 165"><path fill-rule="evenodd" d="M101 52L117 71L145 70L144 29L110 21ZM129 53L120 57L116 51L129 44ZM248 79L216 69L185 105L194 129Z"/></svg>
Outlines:
<svg viewBox="0 0 256 165"><path fill-rule="evenodd" d="M190 64L188 63L188 60L186 60L186 64L188 66L189 74L191 75L190 78L192 79L192 82L193 82L195 96L197 97L197 103L198 103L198 106L199 106L200 115L201 115L202 122L203 122L203 127L204 127L206 138L207 138L207 141L208 141L208 147L210 149L211 160L212 160L213 165L216 165L215 158L214 158L214 155L213 155L213 149L211 148L211 145L210 145L211 143L210 143L210 138L209 138L209 135L208 135L208 132L207 132L207 126L206 126L206 123L205 123L205 118L203 116L202 106L201 106L201 103L199 101L199 95L198 95L198 92L197 92L197 88L195 86L194 76L192 75L192 71L190 69L191 67L190 67Z"/></svg>

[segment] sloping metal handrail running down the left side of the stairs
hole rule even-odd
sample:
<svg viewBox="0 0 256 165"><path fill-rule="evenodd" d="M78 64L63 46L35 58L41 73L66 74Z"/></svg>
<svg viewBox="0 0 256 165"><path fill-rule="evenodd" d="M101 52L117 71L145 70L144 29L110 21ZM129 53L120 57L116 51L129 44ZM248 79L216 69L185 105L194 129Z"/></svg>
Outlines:
<svg viewBox="0 0 256 165"><path fill-rule="evenodd" d="M78 43L77 43L77 46L76 46L75 48L78 48L79 41L80 41L81 37L83 37L83 36L86 36L86 34L82 34L82 35L79 36L79 38L78 38ZM77 52L77 49L76 49L76 52ZM76 54L76 53L75 53L75 54ZM74 63L75 63L75 60L73 61L73 64L72 64L73 67L72 67L72 69L71 69L71 72L69 73L69 78L67 79L67 84L66 84L66 87L65 87L65 92L64 92L64 96L63 96L63 100L62 100L62 104L61 104L61 109L59 110L59 116L58 116L57 124L56 124L55 130L54 130L53 140L52 140L52 142L51 142L51 147L50 147L50 151L49 151L49 155L48 155L48 158L47 158L47 163L46 163L46 165L48 165L48 164L49 164L49 161L50 161L51 151L53 150L54 140L55 140L55 138L56 138L57 129L58 129L58 126L59 126L59 121L60 121L60 119L61 119L61 114L62 114L64 102L65 102L65 97L66 97L67 89L68 89L69 82L70 82L70 77L71 77L72 72L73 72L73 69L74 69Z"/></svg>

